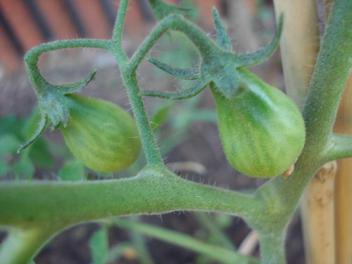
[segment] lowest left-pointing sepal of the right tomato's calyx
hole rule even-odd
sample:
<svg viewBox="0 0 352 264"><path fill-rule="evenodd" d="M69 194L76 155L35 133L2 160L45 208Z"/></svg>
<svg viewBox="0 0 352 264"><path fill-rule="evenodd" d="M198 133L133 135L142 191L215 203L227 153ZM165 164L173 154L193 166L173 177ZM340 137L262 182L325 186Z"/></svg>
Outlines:
<svg viewBox="0 0 352 264"><path fill-rule="evenodd" d="M155 91L144 91L139 95L141 96L150 96L150 97L158 97L169 100L182 100L194 97L198 95L202 90L207 86L209 81L197 81L195 85L190 87L189 89L175 91L175 92L155 92Z"/></svg>

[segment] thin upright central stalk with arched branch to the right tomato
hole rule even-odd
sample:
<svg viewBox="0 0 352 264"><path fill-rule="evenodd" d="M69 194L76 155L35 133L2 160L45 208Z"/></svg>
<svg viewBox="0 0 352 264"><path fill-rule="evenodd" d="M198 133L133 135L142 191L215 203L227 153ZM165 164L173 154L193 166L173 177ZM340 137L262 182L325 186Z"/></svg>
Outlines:
<svg viewBox="0 0 352 264"><path fill-rule="evenodd" d="M125 2L121 4L121 8L126 7L127 4ZM120 17L124 17L124 15L124 12L119 11L117 21L122 20ZM143 100L139 96L140 91L135 71L147 52L168 29L179 30L185 33L199 48L201 53L207 52L215 45L200 29L195 27L193 24L187 22L179 16L172 15L162 20L156 26L156 28L146 38L128 63L126 63L124 57L119 53L119 50L112 50L120 64L121 76L127 89L148 165L163 165L163 162L150 128ZM116 26L116 29L114 30L114 36L116 36L116 39L119 39L118 36L120 36L120 34L122 34L122 29Z"/></svg>

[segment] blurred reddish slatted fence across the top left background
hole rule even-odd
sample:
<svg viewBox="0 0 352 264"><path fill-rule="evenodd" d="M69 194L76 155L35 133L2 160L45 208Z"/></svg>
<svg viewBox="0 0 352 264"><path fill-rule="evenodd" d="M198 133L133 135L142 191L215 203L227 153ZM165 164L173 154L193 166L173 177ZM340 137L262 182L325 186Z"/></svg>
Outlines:
<svg viewBox="0 0 352 264"><path fill-rule="evenodd" d="M47 41L77 37L110 38L119 0L0 0L0 64L9 72L23 65L24 52ZM165 0L180 4L178 0ZM200 24L214 27L211 8L225 0L194 0L201 11ZM125 32L145 32L150 10L147 0L130 0ZM149 13L148 13L149 12Z"/></svg>

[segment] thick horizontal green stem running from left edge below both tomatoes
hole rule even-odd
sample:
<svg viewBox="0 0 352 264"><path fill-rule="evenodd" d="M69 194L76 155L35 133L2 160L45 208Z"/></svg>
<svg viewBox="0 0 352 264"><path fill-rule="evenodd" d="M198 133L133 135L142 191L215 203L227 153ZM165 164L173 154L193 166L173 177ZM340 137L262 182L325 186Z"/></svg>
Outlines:
<svg viewBox="0 0 352 264"><path fill-rule="evenodd" d="M196 184L155 167L122 180L6 183L0 193L0 226L23 229L57 230L112 216L180 210L246 218L260 206L251 196Z"/></svg>

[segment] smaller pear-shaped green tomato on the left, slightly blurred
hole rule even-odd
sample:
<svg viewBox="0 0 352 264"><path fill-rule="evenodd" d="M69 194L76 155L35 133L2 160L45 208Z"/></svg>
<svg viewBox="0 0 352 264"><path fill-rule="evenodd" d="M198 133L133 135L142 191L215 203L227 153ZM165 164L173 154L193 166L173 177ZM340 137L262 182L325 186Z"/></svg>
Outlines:
<svg viewBox="0 0 352 264"><path fill-rule="evenodd" d="M89 168L112 172L138 157L141 142L137 126L117 105L78 94L65 96L70 121L60 127L73 155Z"/></svg>

